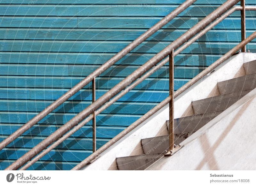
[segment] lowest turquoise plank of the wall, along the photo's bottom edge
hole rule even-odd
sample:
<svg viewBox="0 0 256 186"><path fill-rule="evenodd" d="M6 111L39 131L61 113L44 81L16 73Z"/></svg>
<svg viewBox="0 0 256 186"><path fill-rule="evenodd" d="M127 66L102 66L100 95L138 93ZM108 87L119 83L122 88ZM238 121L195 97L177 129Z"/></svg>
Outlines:
<svg viewBox="0 0 256 186"><path fill-rule="evenodd" d="M0 170L10 166L15 160L0 159ZM61 162L61 161L37 161L27 170L71 170L78 162Z"/></svg>

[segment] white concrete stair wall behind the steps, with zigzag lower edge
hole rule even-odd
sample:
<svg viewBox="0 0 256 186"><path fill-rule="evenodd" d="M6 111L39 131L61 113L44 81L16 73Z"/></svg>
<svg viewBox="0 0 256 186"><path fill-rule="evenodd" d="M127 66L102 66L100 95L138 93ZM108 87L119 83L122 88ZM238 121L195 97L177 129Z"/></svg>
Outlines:
<svg viewBox="0 0 256 186"><path fill-rule="evenodd" d="M256 59L256 54L253 53L235 55L215 68L213 73L204 77L190 89L184 91L174 100L174 118L192 115L192 101L219 95L217 83L245 75L243 64L253 59ZM138 148L140 140L159 134L160 129L166 127L165 123L168 119L169 106L166 105L139 127L116 142L112 147L101 153L100 158L84 167L83 170L108 170L111 169L111 165L115 164L117 157L129 156L131 154L139 155L139 153L134 154L134 150Z"/></svg>

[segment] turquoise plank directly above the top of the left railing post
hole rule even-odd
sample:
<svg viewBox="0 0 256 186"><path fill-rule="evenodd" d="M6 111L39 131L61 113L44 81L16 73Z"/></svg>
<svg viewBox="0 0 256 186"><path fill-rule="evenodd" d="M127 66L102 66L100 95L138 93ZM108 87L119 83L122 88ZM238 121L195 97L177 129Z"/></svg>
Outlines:
<svg viewBox="0 0 256 186"><path fill-rule="evenodd" d="M86 77L91 74L99 65L25 65L25 64L1 64L0 75L39 75L39 76L79 76ZM127 77L139 66L134 65L113 65L108 68L101 76ZM163 66L150 77L168 77L168 66ZM175 78L193 78L196 74L204 70L201 66L175 66Z"/></svg>

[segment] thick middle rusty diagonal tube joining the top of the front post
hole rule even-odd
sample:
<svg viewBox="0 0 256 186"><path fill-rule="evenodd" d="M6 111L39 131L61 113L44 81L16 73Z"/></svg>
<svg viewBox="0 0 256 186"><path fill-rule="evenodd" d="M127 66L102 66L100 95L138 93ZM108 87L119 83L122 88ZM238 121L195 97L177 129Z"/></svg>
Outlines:
<svg viewBox="0 0 256 186"><path fill-rule="evenodd" d="M200 32L206 26L208 26L213 20L219 18L220 15L225 13L228 9L230 9L232 6L234 6L239 1L240 0L228 0L227 2L222 4L219 8L217 8L215 11L213 11L208 16L206 16L203 20L201 20L199 23L197 23L194 27L192 27L186 33L181 35L173 43L168 45L164 50L160 51L153 58L151 58L148 62L146 62L140 68L136 69L132 74L127 76L123 81L118 83L115 87L110 89L102 97L100 97L98 100L96 100L90 106L88 106L82 112L77 114L74 118L69 120L65 125L60 127L58 130L56 130L54 133L52 133L50 136L48 136L42 142L37 144L33 149L28 151L21 158L17 159L14 163L12 163L12 165L7 167L6 170L17 170L18 168L20 168L22 165L24 165L26 162L28 162L34 156L36 156L41 151L43 151L45 148L47 148L52 142L54 142L56 139L59 139L62 135L64 135L66 132L68 132L68 130L75 127L82 120L84 120L84 118L86 118L87 116L92 114L92 112L94 112L96 109L100 108L108 100L110 100L112 97L116 96L120 91L125 89L133 81L138 79L141 75L143 75L145 72L147 72L153 66L155 66L159 61L164 59L167 55L170 54L170 51L172 49L176 50L183 43L188 41L190 38L192 38L194 35L196 35L198 32Z"/></svg>

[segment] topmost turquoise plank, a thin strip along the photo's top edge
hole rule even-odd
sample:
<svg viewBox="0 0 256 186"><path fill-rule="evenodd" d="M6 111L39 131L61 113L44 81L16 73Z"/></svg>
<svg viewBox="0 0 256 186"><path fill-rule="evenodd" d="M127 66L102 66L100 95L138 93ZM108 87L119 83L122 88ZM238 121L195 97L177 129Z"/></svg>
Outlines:
<svg viewBox="0 0 256 186"><path fill-rule="evenodd" d="M91 0L91 1L75 1L74 0L1 0L0 4L181 4L185 0L175 0L175 1L166 1L166 0ZM223 4L226 0L214 0L212 2L205 0L198 0L194 4ZM246 0L246 4L254 4L254 0ZM240 4L240 3L238 3Z"/></svg>

